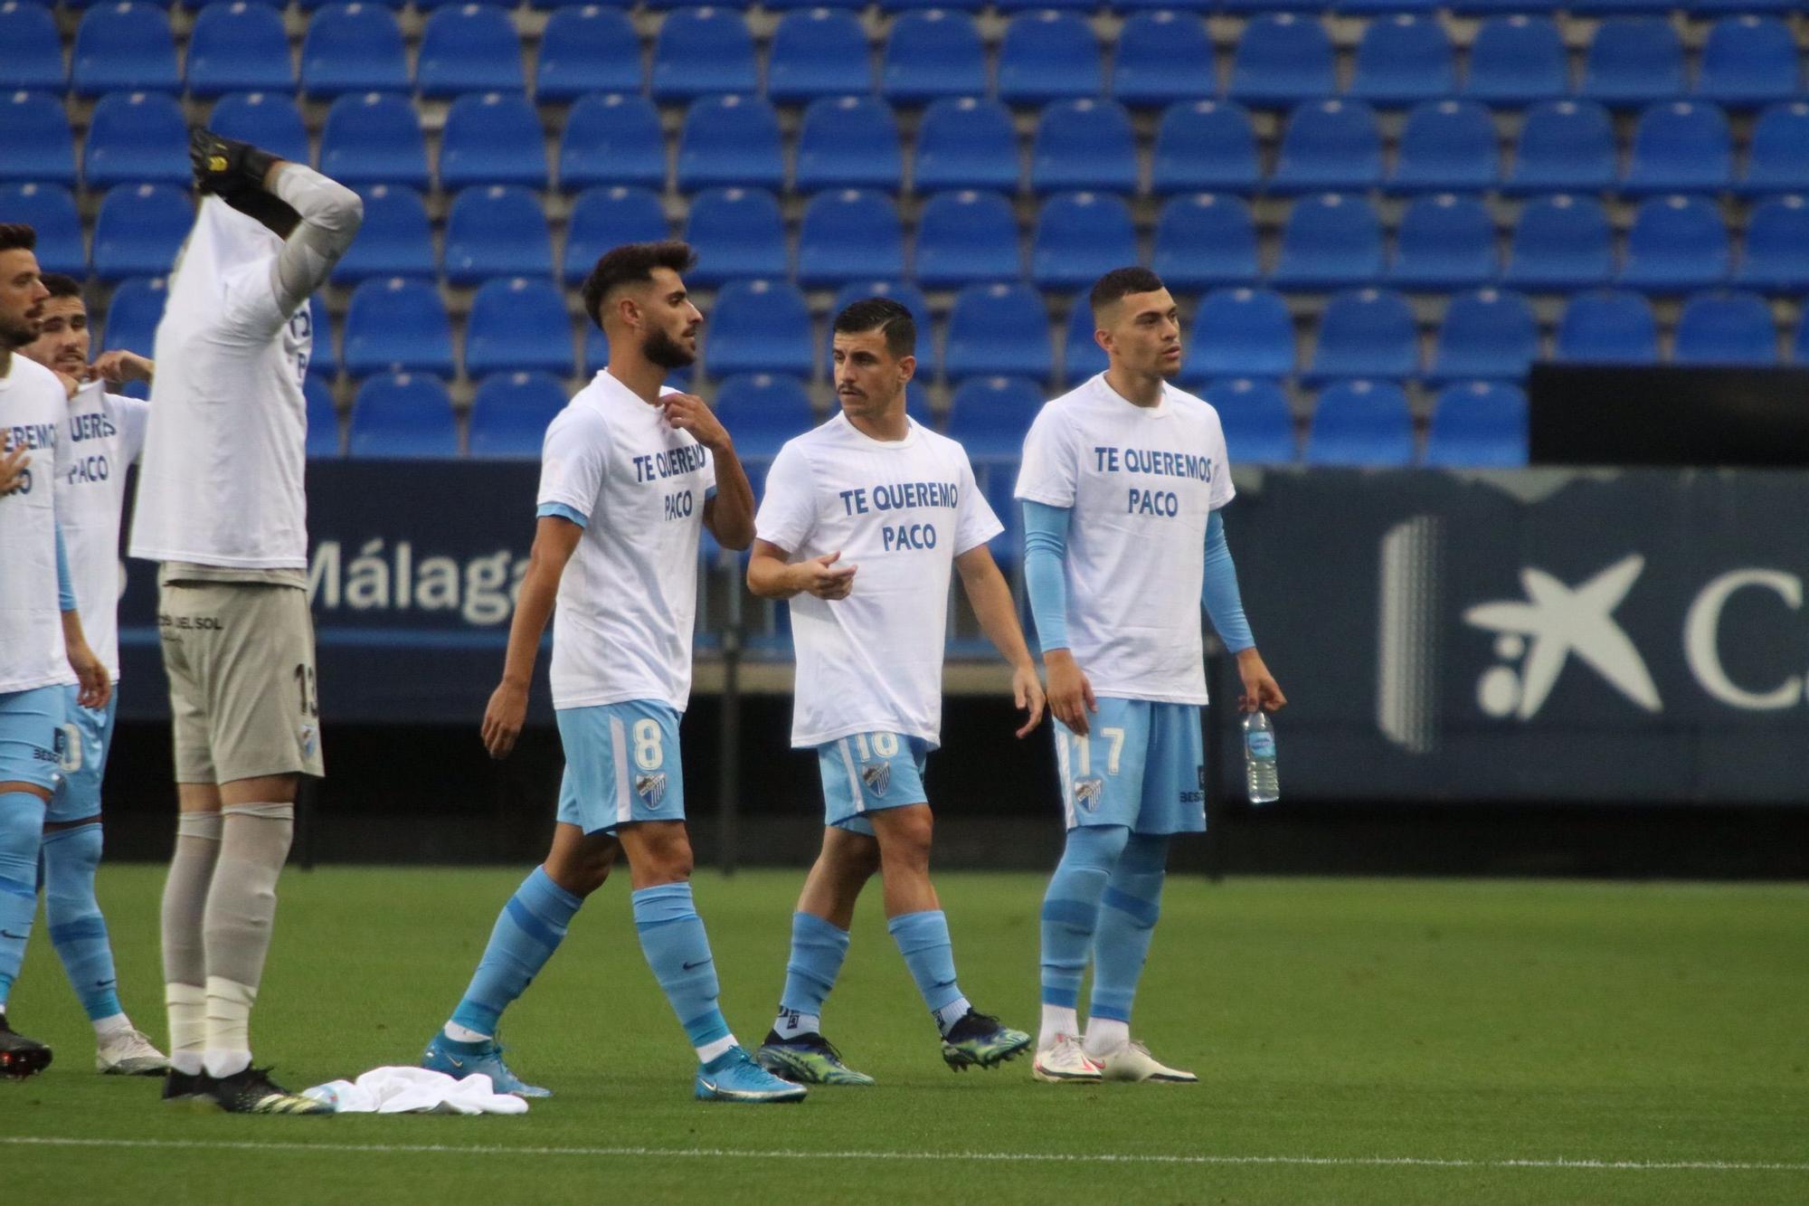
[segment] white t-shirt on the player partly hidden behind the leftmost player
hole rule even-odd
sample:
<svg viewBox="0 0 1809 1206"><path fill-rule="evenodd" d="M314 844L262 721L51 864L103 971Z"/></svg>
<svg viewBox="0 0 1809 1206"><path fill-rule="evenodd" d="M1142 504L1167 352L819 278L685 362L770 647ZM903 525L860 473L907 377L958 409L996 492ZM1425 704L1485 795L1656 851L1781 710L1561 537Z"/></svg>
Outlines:
<svg viewBox="0 0 1809 1206"><path fill-rule="evenodd" d="M89 648L119 681L119 514L127 467L145 449L150 404L105 393L90 382L69 400L56 474L69 578Z"/></svg>

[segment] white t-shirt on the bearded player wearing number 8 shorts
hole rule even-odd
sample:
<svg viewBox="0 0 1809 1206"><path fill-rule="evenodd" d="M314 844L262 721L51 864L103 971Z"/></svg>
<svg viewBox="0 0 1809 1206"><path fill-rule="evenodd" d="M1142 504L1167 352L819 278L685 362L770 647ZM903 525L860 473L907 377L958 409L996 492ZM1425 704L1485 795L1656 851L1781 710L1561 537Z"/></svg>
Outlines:
<svg viewBox="0 0 1809 1206"><path fill-rule="evenodd" d="M657 699L684 712L696 545L715 489L709 449L608 369L548 424L537 503L584 522L554 612L555 708Z"/></svg>

